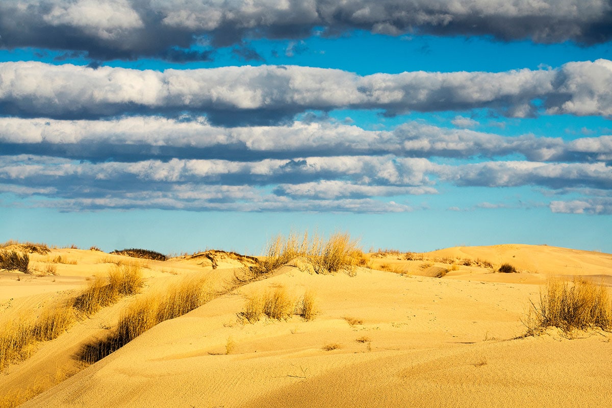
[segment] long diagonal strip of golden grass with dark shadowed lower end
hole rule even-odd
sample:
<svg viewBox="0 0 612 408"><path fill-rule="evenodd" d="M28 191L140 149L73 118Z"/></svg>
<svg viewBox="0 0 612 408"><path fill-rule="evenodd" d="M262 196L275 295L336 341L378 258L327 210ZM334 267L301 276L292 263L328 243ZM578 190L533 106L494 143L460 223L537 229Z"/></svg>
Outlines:
<svg viewBox="0 0 612 408"><path fill-rule="evenodd" d="M164 294L149 294L130 305L119 317L116 330L105 339L87 344L80 359L95 363L129 343L155 325L182 316L211 299L205 277L187 276L166 289Z"/></svg>

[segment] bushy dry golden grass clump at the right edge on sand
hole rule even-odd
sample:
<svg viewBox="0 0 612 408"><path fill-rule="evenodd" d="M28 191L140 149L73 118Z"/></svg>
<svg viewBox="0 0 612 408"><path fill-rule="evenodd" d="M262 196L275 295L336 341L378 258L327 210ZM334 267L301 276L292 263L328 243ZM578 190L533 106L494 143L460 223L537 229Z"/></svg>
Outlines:
<svg viewBox="0 0 612 408"><path fill-rule="evenodd" d="M568 281L550 280L540 291L540 305L532 303L526 322L528 335L546 327L559 327L565 332L577 328L599 327L612 330L612 302L608 289L602 283L584 279Z"/></svg>

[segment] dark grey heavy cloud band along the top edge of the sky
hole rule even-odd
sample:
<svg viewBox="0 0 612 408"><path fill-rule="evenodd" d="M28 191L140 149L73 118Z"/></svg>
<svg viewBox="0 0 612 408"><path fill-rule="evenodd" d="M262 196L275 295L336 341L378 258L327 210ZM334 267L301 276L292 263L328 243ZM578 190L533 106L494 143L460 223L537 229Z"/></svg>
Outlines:
<svg viewBox="0 0 612 408"><path fill-rule="evenodd" d="M606 0L10 0L0 3L1 46L86 51L97 59L163 57L198 38L299 39L323 28L401 35L490 35L500 40L606 42Z"/></svg>

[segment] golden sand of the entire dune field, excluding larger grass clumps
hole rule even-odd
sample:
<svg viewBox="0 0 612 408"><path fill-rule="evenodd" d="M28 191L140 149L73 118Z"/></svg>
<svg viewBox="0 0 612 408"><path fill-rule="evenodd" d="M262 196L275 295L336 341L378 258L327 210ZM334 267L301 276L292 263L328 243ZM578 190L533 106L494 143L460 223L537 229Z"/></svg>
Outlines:
<svg viewBox="0 0 612 408"><path fill-rule="evenodd" d="M119 265L137 265L144 286L6 365L4 406L38 393L23 407L612 405L611 333L524 336L549 278L610 286L611 254L546 245L387 251L365 254L350 273L314 273L297 257L262 275L253 272L257 258L224 251L156 261L50 248L29 258L32 274L0 272L4 327L75 297ZM517 273L496 272L502 264ZM203 305L98 362L80 359L139 299L162 299L193 276L206 278ZM314 300L310 320L299 316L305 295ZM249 321L247 303L259 301L259 320ZM280 310L283 301L289 315L268 317L265 308Z"/></svg>

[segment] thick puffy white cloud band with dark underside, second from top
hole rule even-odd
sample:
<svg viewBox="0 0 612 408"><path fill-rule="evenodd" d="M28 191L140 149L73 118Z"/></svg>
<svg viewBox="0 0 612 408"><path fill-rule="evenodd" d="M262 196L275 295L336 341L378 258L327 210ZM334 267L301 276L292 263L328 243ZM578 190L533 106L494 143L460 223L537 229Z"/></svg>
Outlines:
<svg viewBox="0 0 612 408"><path fill-rule="evenodd" d="M588 73L586 75L585 73ZM612 115L612 62L557 70L403 72L359 76L299 66L221 67L163 72L91 69L41 62L0 64L0 107L8 114L64 119L191 112L224 125L278 124L332 109L409 111L490 108L509 116ZM542 100L545 110L536 106Z"/></svg>

